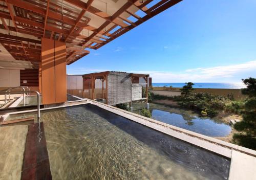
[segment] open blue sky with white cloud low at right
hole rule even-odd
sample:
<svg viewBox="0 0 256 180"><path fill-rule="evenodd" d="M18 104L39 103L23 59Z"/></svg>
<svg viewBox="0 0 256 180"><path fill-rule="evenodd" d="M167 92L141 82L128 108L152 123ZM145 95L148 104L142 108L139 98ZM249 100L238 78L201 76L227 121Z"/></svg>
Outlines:
<svg viewBox="0 0 256 180"><path fill-rule="evenodd" d="M256 1L183 0L88 56L68 74L147 73L153 82L256 77Z"/></svg>

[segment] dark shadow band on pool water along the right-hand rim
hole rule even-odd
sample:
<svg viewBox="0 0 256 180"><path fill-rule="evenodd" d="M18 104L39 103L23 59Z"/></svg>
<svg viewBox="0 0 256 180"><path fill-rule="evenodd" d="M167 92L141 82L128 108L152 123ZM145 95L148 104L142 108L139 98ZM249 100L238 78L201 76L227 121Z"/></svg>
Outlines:
<svg viewBox="0 0 256 180"><path fill-rule="evenodd" d="M84 105L84 108L131 134L147 146L154 148L158 153L165 155L170 161L210 179L228 178L230 160L223 156L167 136L164 133L110 113L95 105L87 104Z"/></svg>

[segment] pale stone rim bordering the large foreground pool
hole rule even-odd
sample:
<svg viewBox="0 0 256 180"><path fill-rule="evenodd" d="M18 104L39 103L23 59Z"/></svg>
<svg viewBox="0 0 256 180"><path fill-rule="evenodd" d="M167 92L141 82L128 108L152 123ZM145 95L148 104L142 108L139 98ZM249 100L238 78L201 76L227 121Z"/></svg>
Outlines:
<svg viewBox="0 0 256 180"><path fill-rule="evenodd" d="M254 168L256 167L256 158L255 158L256 151L248 148L244 148L235 144L217 140L215 138L210 138L196 132L178 128L176 126L165 124L150 118L146 118L146 117L131 113L129 111L125 111L110 105L106 105L106 104L88 100L88 99L66 103L65 105L61 105L57 107L43 108L41 110L76 106L76 105L82 105L82 104L88 104L88 103L96 105L102 109L108 110L114 114L117 114L129 120L135 121L137 123L150 127L157 131L168 134L169 136L175 137L177 139L188 142L190 144L199 146L208 151L212 151L214 153L230 158L231 166L230 166L230 172L229 172L229 179L250 179L250 178L255 179L256 178L256 172L253 169L253 167ZM35 112L36 109L10 113L9 115L29 113L33 111ZM236 173L240 171L246 172L246 174L240 173L240 176L236 175Z"/></svg>

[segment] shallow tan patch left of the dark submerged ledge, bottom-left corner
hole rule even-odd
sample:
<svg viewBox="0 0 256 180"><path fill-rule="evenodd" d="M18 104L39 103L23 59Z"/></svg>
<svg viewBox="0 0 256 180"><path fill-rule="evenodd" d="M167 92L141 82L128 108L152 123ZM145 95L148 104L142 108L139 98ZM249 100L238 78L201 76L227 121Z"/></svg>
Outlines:
<svg viewBox="0 0 256 180"><path fill-rule="evenodd" d="M20 179L27 125L0 127L0 179Z"/></svg>

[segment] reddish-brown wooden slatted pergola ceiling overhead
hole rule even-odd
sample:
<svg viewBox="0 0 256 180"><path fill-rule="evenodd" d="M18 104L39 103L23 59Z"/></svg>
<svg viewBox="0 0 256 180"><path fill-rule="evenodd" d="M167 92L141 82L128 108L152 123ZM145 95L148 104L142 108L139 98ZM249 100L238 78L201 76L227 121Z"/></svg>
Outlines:
<svg viewBox="0 0 256 180"><path fill-rule="evenodd" d="M41 37L63 41L71 64L181 1L0 0L0 43L37 66Z"/></svg>

